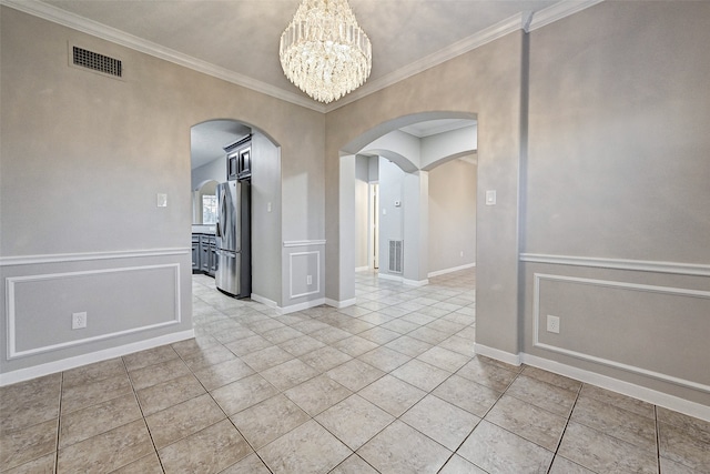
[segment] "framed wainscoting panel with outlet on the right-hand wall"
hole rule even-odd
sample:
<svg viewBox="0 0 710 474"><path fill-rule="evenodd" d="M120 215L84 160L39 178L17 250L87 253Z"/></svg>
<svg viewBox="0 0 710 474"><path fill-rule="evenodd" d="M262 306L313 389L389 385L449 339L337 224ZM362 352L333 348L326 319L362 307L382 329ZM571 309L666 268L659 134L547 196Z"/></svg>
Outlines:
<svg viewBox="0 0 710 474"><path fill-rule="evenodd" d="M710 393L710 291L534 272L531 304L536 349Z"/></svg>

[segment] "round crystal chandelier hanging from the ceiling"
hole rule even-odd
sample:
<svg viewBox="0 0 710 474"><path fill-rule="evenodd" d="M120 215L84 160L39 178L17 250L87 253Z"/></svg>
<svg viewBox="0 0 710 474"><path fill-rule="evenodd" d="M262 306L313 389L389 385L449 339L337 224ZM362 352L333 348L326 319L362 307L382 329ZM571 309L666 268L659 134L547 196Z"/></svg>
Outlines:
<svg viewBox="0 0 710 474"><path fill-rule="evenodd" d="M361 87L372 69L372 46L347 0L303 0L281 36L286 78L328 103Z"/></svg>

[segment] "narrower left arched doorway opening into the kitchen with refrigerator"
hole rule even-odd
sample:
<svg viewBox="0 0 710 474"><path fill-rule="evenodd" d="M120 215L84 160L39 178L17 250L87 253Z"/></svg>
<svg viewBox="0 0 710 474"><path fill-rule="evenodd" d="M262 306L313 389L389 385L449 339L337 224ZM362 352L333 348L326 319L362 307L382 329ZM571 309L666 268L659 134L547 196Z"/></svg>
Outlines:
<svg viewBox="0 0 710 474"><path fill-rule="evenodd" d="M220 260L232 254L236 259L237 251L244 246L251 246L250 255L240 255L241 262L248 262L248 273L245 265L239 269L240 279L246 281L251 275L251 292L242 290L241 297L251 297L270 304L281 305L282 302L282 215L281 215L281 147L255 125L231 119L215 119L193 125L191 135L191 193L192 193L192 233L193 233L193 273L210 269L206 272L212 276L220 273ZM235 148L236 147L236 148ZM230 153L237 151L240 159L243 152L248 152L251 174L230 175ZM245 181L241 181L245 180ZM220 252L220 235L214 221L214 214L219 213L217 203L221 202L215 191L219 184L241 183L240 202L247 203L247 210L240 208L239 225L234 225L233 235L239 235L240 249L233 249L226 255L227 249ZM223 186L225 189L225 186ZM224 192L222 194L225 194ZM236 214L235 214L236 215ZM243 220L248 215L251 219ZM236 218L233 220L236 222ZM248 246L245 244L243 230L248 229L251 236ZM222 232L225 240L224 232ZM197 235L197 239L195 239ZM203 245L207 242L206 251L195 251L195 243ZM222 242L224 243L224 242ZM217 256L205 266L201 261L203 255L212 255L212 249ZM195 255L199 255L195 261ZM201 270L200 270L201 269ZM204 271L203 271L204 272ZM244 272L244 273L242 273ZM248 294L245 296L244 294Z"/></svg>

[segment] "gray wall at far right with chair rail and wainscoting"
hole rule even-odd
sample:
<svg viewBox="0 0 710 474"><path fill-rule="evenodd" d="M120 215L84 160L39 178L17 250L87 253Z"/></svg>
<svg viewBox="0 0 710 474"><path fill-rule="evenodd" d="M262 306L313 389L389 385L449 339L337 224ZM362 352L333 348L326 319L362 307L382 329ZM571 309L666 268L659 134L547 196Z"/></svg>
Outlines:
<svg viewBox="0 0 710 474"><path fill-rule="evenodd" d="M704 404L709 21L604 2L534 31L524 195L524 351Z"/></svg>

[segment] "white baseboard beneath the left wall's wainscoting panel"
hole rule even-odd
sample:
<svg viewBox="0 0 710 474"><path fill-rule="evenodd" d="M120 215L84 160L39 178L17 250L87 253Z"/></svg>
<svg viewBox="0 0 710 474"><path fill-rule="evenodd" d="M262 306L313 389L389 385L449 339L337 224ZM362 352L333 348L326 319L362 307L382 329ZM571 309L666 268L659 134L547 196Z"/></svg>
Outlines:
<svg viewBox="0 0 710 474"><path fill-rule="evenodd" d="M159 337L145 341L133 342L120 345L118 347L104 349L102 351L92 352L90 354L67 357L60 361L48 362L47 364L34 365L28 369L19 369L12 372L0 374L0 386L10 385L30 379L37 379L57 372L68 371L81 365L93 364L113 357L131 354L133 352L145 351L148 349L158 347L159 345L172 344L195 336L194 330L182 331L179 333L165 334Z"/></svg>

